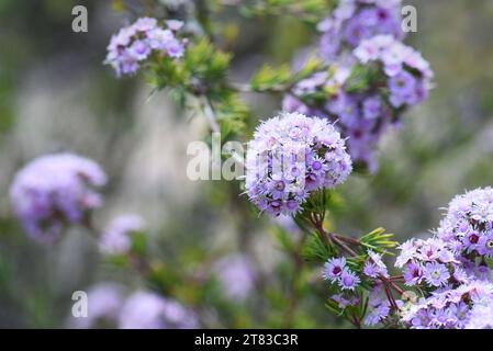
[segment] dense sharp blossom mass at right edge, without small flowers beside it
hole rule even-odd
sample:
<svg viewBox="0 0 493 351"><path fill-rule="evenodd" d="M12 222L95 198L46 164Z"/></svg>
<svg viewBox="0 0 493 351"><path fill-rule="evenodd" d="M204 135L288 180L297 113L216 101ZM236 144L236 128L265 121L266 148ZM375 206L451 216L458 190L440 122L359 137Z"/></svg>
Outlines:
<svg viewBox="0 0 493 351"><path fill-rule="evenodd" d="M395 265L425 297L402 312L411 328L492 328L493 190L453 199L437 237L401 246Z"/></svg>

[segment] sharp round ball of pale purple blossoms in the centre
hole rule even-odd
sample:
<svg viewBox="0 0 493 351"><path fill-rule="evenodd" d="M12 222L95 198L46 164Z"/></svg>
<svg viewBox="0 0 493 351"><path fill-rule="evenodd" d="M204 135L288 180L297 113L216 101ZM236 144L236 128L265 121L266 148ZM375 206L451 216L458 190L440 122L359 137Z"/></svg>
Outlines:
<svg viewBox="0 0 493 351"><path fill-rule="evenodd" d="M257 128L246 169L247 194L260 211L294 215L312 192L343 183L351 160L328 121L283 113Z"/></svg>

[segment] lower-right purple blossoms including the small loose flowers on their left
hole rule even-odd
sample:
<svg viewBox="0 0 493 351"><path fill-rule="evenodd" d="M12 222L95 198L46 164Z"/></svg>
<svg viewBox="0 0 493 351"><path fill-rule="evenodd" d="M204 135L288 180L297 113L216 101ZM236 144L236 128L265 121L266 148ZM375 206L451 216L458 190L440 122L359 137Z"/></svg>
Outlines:
<svg viewBox="0 0 493 351"><path fill-rule="evenodd" d="M399 247L395 267L403 271L402 276L390 276L381 256L372 251L368 251L360 276L348 269L345 258L328 260L323 276L339 290L332 299L343 312L365 302L362 322L367 326L493 328L492 230L493 189L477 189L450 202L435 237L410 239ZM358 263L351 263L358 270ZM396 287L401 279L416 293ZM356 291L358 285L361 288ZM369 285L367 298L362 295ZM390 287L403 294L402 299L396 299Z"/></svg>

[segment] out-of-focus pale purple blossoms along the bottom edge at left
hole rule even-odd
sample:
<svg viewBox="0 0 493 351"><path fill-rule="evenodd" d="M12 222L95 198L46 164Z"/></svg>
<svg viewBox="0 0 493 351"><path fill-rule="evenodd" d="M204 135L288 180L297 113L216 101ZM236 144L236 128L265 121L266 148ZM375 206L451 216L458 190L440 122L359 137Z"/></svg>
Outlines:
<svg viewBox="0 0 493 351"><path fill-rule="evenodd" d="M87 318L70 318L75 328L194 329L197 315L180 303L138 291L125 297L117 284L100 283L88 292Z"/></svg>

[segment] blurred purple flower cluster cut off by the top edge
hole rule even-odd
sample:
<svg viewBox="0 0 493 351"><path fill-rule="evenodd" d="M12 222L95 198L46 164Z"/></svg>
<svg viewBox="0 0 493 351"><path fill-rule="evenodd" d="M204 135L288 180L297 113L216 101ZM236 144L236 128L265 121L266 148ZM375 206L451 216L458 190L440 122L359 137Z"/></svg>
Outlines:
<svg viewBox="0 0 493 351"><path fill-rule="evenodd" d="M318 23L322 57L333 60L380 34L403 39L401 21L401 0L340 0L332 15Z"/></svg>

